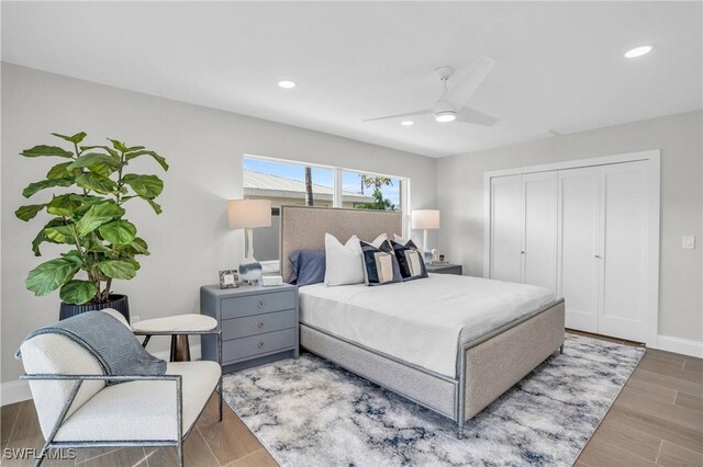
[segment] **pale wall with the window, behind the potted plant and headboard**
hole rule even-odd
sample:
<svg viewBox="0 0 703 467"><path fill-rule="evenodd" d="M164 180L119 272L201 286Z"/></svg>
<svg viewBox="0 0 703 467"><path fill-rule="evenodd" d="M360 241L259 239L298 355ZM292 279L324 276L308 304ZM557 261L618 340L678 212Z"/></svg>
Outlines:
<svg viewBox="0 0 703 467"><path fill-rule="evenodd" d="M52 132L80 130L91 144L113 137L147 146L171 166L163 176L164 214L157 217L137 203L129 206L129 218L152 255L142 261L136 278L115 289L129 294L132 315L141 319L198 312L199 287L216 283L217 270L238 263L243 234L228 229L225 201L242 196L243 153L408 176L411 207L436 206L434 159L2 64L2 381L21 374L14 351L31 330L57 319L59 304L58 294L34 297L24 278L60 250L44 247L45 258L34 258L30 243L43 224L13 215L26 204L22 189L43 179L56 161L18 153L55 144ZM146 158L130 168L160 170Z"/></svg>

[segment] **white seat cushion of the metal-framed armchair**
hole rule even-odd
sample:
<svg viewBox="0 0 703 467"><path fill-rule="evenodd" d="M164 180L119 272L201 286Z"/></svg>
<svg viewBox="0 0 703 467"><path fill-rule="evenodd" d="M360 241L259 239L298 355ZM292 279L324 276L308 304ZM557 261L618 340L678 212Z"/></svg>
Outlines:
<svg viewBox="0 0 703 467"><path fill-rule="evenodd" d="M167 375L183 377L183 434L202 412L220 380L216 362L169 363ZM56 441L177 440L176 383L130 381L109 386L64 422Z"/></svg>

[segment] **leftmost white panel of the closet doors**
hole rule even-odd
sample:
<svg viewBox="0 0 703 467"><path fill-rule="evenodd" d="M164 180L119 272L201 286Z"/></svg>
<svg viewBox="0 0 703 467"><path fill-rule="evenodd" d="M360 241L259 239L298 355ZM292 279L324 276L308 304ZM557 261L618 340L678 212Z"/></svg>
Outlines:
<svg viewBox="0 0 703 467"><path fill-rule="evenodd" d="M521 175L491 179L491 278L522 282L522 197Z"/></svg>

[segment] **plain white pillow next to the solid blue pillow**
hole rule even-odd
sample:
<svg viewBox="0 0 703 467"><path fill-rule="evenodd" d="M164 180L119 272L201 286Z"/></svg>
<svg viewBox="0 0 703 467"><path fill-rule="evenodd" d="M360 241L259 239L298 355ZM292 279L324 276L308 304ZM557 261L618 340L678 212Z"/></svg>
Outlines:
<svg viewBox="0 0 703 467"><path fill-rule="evenodd" d="M364 260L359 238L352 236L342 244L335 236L325 234L325 285L364 283Z"/></svg>

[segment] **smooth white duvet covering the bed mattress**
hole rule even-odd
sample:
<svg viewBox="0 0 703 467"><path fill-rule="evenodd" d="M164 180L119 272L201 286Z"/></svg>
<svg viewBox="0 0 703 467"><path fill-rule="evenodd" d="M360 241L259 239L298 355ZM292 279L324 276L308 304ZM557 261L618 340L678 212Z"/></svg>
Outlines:
<svg viewBox="0 0 703 467"><path fill-rule="evenodd" d="M300 321L456 377L457 348L554 301L544 287L478 277L300 287Z"/></svg>

